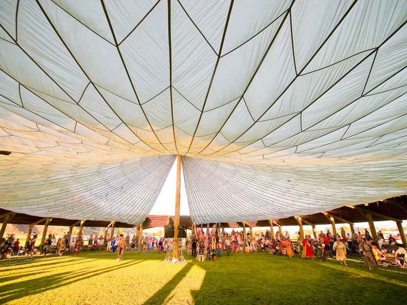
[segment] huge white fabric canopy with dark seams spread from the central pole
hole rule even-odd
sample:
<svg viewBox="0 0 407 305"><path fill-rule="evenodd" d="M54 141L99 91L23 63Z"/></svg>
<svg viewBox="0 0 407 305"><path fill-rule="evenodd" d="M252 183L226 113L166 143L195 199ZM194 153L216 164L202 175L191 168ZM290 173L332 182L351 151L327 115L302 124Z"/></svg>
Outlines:
<svg viewBox="0 0 407 305"><path fill-rule="evenodd" d="M2 1L0 208L138 224L175 155L198 223L404 194L406 21L404 0Z"/></svg>

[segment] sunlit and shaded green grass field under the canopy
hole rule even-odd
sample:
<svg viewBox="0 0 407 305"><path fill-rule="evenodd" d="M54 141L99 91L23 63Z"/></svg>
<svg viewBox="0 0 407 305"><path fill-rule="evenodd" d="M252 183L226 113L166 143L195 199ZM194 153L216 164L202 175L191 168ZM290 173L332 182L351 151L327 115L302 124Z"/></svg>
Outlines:
<svg viewBox="0 0 407 305"><path fill-rule="evenodd" d="M268 253L163 264L165 254L81 253L0 262L8 304L405 304L407 269ZM187 256L187 258L189 258Z"/></svg>

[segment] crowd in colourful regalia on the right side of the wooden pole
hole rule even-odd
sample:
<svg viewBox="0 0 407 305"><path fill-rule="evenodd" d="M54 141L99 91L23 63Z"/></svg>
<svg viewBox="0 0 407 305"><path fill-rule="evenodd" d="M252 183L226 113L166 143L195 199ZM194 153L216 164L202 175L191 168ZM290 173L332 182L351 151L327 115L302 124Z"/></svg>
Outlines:
<svg viewBox="0 0 407 305"><path fill-rule="evenodd" d="M202 232L203 233L203 232ZM219 237L220 235L220 237ZM403 245L396 242L396 239L390 235L387 242L381 231L377 232L379 239L374 242L369 231L365 229L363 233L352 232L345 233L340 229L340 233L332 234L329 230L326 233L321 231L317 237L305 235L301 238L301 232L298 232L298 238L290 239L289 233L285 234L277 231L272 234L266 230L266 233L256 233L251 236L248 232L245 236L244 231L235 231L230 233L217 233L216 228L210 233L209 243L205 242L205 235L198 237L188 237L186 239L186 248L188 254L196 256L198 261L203 261L209 256L210 260L216 260L216 256L222 256L222 251L230 256L235 253L257 253L266 251L273 255L293 257L299 254L302 258L318 259L325 261L328 257L335 258L340 264L347 265L346 260L351 254L363 257L365 264L369 269L373 269L383 263L386 253L391 253L399 266L405 266L404 256L407 254Z"/></svg>

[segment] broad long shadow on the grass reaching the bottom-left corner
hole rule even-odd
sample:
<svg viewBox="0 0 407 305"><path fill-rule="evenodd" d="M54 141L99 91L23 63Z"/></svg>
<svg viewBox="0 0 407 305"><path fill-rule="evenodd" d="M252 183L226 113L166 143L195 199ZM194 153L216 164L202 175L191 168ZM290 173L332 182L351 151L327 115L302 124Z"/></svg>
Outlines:
<svg viewBox="0 0 407 305"><path fill-rule="evenodd" d="M17 283L7 284L1 287L2 291L0 291L0 303L7 303L9 301L19 299L28 295L34 295L44 291L49 291L51 289L69 285L77 281L102 275L105 272L130 267L142 261L143 260L133 262L129 261L121 263L116 267L98 269L94 272L89 271L89 268L82 268L75 271L55 273L53 275L41 277L36 280L25 280L19 281Z"/></svg>

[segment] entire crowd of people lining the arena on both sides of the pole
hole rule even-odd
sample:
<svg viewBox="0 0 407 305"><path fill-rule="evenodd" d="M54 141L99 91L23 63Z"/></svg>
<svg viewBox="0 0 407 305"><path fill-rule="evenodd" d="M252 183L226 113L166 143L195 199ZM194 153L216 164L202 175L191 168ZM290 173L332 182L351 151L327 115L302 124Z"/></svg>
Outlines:
<svg viewBox="0 0 407 305"><path fill-rule="evenodd" d="M208 228L209 230L209 228ZM266 230L265 233L255 233L253 235L244 231L232 229L230 233L226 233L224 229L218 232L214 226L210 234L204 234L203 230L196 231L200 234L191 234L185 239L185 248L187 253L196 257L198 261L205 260L208 256L210 260L215 261L217 257L222 256L225 251L227 256L232 252L235 253L257 253L265 251L273 255L281 255L293 257L296 254L306 259L318 259L325 261L328 257L335 258L340 264L346 265L346 260L350 254L356 254L363 257L365 264L369 269L382 264L386 260L386 254L391 253L395 258L395 262L399 266L405 266L404 256L407 254L403 245L399 245L396 239L390 235L388 241L384 234L377 232L377 240L373 240L367 229L364 232L345 233L343 228L337 234L332 234L321 231L317 237L305 235L301 238L301 232L298 232L298 238L292 240L289 233L286 231L282 234L277 231L272 234ZM208 231L209 232L209 231ZM88 251L102 250L106 246L106 251L110 253L118 252L118 260L122 260L125 251L140 251L147 253L151 250L159 253L172 251L172 238L141 236L138 242L136 235L132 237L127 234L110 236L107 234L106 240L102 235L98 236L91 234L89 238L82 236L70 236L69 233L56 238L54 234L49 234L45 238L42 247L36 247L38 235L34 233L33 237L25 243L25 246L20 245L19 239L14 240L13 237L7 239L7 244L10 248L9 255L18 255L23 253L26 256L36 254L47 255L55 252L58 256L63 253L73 252L78 255L83 249ZM179 240L179 251L182 252L182 239Z"/></svg>

